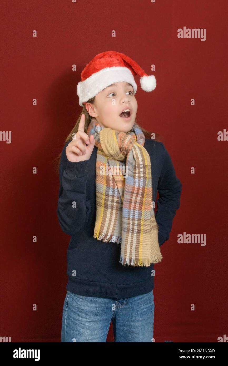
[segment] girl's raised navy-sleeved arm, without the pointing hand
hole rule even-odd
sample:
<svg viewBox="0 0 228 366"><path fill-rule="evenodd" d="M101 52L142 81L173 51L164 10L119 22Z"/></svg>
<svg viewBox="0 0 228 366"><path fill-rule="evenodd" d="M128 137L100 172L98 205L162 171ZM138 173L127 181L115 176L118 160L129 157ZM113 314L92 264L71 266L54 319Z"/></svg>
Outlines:
<svg viewBox="0 0 228 366"><path fill-rule="evenodd" d="M90 159L69 161L66 156L68 143L60 160L57 216L63 232L73 236L87 223L91 211L90 201L86 199L86 168Z"/></svg>

